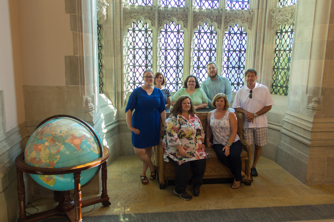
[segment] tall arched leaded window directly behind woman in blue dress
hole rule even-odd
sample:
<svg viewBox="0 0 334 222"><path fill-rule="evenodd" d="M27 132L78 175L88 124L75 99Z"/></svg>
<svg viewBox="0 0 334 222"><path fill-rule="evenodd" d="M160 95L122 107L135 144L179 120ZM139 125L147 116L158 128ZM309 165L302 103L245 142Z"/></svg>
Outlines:
<svg viewBox="0 0 334 222"><path fill-rule="evenodd" d="M152 69L152 29L138 20L128 29L128 90L142 85L143 71Z"/></svg>

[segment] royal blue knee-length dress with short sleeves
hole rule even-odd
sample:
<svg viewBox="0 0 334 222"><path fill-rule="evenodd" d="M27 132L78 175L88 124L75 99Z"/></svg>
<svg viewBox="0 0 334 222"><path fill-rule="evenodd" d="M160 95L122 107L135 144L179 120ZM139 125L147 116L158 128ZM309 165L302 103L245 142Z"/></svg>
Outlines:
<svg viewBox="0 0 334 222"><path fill-rule="evenodd" d="M160 113L165 107L164 95L161 90L154 88L149 96L141 87L135 89L128 101L125 112L132 113L132 126L140 130L137 135L132 131L132 144L136 148L144 149L158 145L160 136Z"/></svg>

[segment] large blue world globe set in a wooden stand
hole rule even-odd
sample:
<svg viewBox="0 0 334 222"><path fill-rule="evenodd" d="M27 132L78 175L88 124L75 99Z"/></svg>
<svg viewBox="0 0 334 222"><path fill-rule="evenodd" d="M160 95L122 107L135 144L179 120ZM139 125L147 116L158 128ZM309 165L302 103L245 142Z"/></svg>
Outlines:
<svg viewBox="0 0 334 222"><path fill-rule="evenodd" d="M101 138L94 128L78 118L59 116L45 119L32 133L24 151L26 164L39 168L75 167L100 157ZM81 186L97 174L98 168L81 171ZM74 189L73 173L30 175L38 184L51 190Z"/></svg>

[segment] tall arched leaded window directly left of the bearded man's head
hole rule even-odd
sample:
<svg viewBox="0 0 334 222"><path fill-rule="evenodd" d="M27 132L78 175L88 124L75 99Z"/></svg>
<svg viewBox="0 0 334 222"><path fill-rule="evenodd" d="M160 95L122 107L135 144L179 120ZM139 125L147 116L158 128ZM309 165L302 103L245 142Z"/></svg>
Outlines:
<svg viewBox="0 0 334 222"><path fill-rule="evenodd" d="M217 32L214 27L199 25L194 33L192 75L197 76L199 83L206 79L206 64L216 61Z"/></svg>

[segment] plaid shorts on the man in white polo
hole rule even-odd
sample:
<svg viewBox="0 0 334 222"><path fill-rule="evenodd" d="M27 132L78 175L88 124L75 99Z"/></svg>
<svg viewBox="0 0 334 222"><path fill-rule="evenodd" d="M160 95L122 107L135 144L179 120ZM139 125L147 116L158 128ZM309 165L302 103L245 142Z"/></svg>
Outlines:
<svg viewBox="0 0 334 222"><path fill-rule="evenodd" d="M259 127L259 128L243 128L242 137L249 144L254 144L258 146L264 146L267 144L267 134L268 127Z"/></svg>

